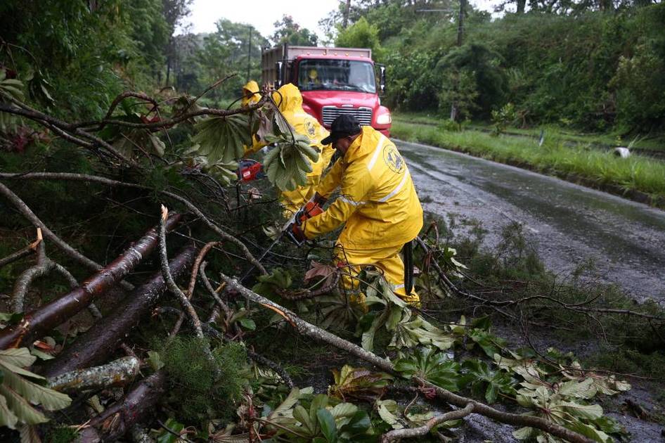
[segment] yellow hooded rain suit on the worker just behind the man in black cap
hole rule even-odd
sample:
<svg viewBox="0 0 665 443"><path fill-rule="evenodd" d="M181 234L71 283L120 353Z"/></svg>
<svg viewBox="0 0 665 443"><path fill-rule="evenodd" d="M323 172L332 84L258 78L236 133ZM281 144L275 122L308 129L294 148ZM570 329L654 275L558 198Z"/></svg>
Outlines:
<svg viewBox="0 0 665 443"><path fill-rule="evenodd" d="M328 131L318 123L316 118L302 109L302 94L296 86L289 83L280 87L276 93L273 93L273 100L293 129L298 134L307 136L311 141L311 146L317 148L320 153L318 160L311 163L312 171L307 174L307 184L299 186L295 191L282 192L283 206L290 215L299 210L314 195L316 186L321 181L323 169L330 162L335 149L330 145L321 144L321 140L328 136Z"/></svg>

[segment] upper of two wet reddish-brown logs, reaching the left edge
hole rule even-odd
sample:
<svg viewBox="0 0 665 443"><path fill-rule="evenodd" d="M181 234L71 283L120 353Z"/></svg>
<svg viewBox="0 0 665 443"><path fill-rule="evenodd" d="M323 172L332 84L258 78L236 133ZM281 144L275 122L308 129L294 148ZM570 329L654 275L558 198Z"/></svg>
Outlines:
<svg viewBox="0 0 665 443"><path fill-rule="evenodd" d="M180 216L169 218L167 229L173 229L180 218ZM86 308L97 295L104 293L127 276L129 271L155 248L155 245L157 245L157 229L153 228L115 261L84 281L79 288L34 311L27 312L20 323L2 330L0 349L19 347L22 343L30 342L40 334L70 319Z"/></svg>

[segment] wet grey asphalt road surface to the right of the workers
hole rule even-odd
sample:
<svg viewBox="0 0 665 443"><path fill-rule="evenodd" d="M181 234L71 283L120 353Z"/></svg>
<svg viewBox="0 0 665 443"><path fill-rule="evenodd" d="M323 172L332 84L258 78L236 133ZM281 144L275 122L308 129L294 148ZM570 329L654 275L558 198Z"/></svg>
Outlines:
<svg viewBox="0 0 665 443"><path fill-rule="evenodd" d="M573 271L593 259L595 278L636 300L665 305L665 212L567 181L441 148L395 141L423 209L482 222L486 244L503 226L524 233L548 269Z"/></svg>

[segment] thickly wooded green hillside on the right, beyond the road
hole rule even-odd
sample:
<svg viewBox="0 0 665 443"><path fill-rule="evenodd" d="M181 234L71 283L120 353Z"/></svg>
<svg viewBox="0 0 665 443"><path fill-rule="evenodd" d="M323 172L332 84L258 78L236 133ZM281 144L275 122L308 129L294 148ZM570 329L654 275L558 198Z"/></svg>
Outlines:
<svg viewBox="0 0 665 443"><path fill-rule="evenodd" d="M524 124L665 129L665 4L533 1L495 19L467 5L460 47L456 1L351 5L349 27L343 6L324 24L337 44L373 47L396 110L448 115L454 101L461 120L489 120L512 103Z"/></svg>

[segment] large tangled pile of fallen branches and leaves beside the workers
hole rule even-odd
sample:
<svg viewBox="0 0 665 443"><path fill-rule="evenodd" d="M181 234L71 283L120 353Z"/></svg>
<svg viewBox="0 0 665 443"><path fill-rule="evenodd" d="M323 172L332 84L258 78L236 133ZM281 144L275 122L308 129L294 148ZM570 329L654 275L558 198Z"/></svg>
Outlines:
<svg viewBox="0 0 665 443"><path fill-rule="evenodd" d="M412 309L395 297L392 288L375 271L363 274L369 281L363 285L370 307L366 313L351 306L349 295L338 290L344 269L325 271L318 266L310 275L321 277L316 288L294 289L288 272L266 269L257 260L258 252L271 239L254 235L257 226L247 229L239 221L273 200L259 198L257 202L254 197L259 191L245 193L232 180L229 171L242 156L238 146L266 134L272 134L268 139L278 139L277 144L285 153L302 144L281 120L269 98L270 91L262 91L263 98L255 105L227 110L199 108L196 103L200 97L159 100L126 92L115 98L102 120L65 122L24 103L14 90L19 85L5 86L0 87L0 115L15 119L4 127L5 135L11 132L12 124L30 126L34 131L41 128L57 137L58 143L70 143L82 150L99 171L83 174L26 168L21 172L0 172L0 199L32 224L36 232L26 248L0 257L0 269L19 261L33 263L15 276L8 303L11 312L0 319L0 425L18 430L25 441L44 437L43 423L51 418L62 422L65 417L76 417L78 424L70 429L84 442L115 441L124 435L146 441L151 438L146 426L156 428L160 435L173 435L184 441L257 442L274 437L276 441L298 442L391 442L430 432L440 435L446 427L454 426L455 420L472 413L521 427L520 437L542 434L570 442L607 437L602 430L607 430L607 426L602 428L605 422L602 410L598 410L600 406L590 405L587 400L602 389L605 393L625 390L626 384L605 379L596 383L595 374L583 371L573 362L564 367L560 361L550 361L556 370L545 370L542 362L534 358L508 354L503 347L491 345L498 339L492 338L488 328L479 323L465 325L455 321L441 328L434 326L425 321L425 311ZM123 106L128 99L138 100L134 105L145 107L146 112L131 112L131 107ZM117 110L119 107L124 113ZM197 134L194 141L198 145L184 149L167 146L172 143L169 133L181 127ZM226 139L214 139L219 134ZM299 184L302 171L290 171L285 162L282 165L284 170L273 174L278 177L273 184L286 188ZM181 186L150 184L146 178L156 169L174 172L176 183ZM38 214L13 191L15 185L32 181L96 185L131 191L143 198L148 195L149 210L144 208L136 217L150 220L153 227L142 236L136 233L134 243L121 255L101 263L100 257L87 257L58 236L41 218L48 214ZM233 186L235 197L229 192ZM177 212L168 207L176 207ZM278 221L278 217L271 217L271 223ZM515 315L506 308L518 302L493 302L458 288L451 276L460 273L461 264L445 248L441 249L438 240L419 241L419 248L431 265L426 271L438 278L448 295ZM47 255L47 250L51 255ZM152 262L151 255L155 256ZM279 254L273 254L271 259L294 261L293 257ZM78 281L61 262L86 269L89 276ZM139 266L141 272L137 272ZM153 274L141 278L145 271ZM49 302L30 303L34 282L51 274L65 278L70 290L55 295ZM177 281L184 284L178 285ZM251 282L257 284L250 288ZM114 294L110 306L97 307L96 302L110 293ZM311 308L313 302L324 307L319 326L303 318L306 309L302 308ZM259 312L266 315L258 315ZM257 325L252 314L257 314L256 319L269 318L268 314L271 317L268 323ZM91 326L73 341L65 340L65 333L62 343L66 346L58 345L52 338L58 328L61 330L82 315L91 316ZM174 418L162 420L164 415L155 415L155 411L160 411L157 406L166 401L169 387L173 386L172 372L168 361L164 361L166 355L155 352L154 347L148 351L146 341L136 333L141 325L154 321L167 326L165 333L155 333L157 340L165 343L160 349L169 349L169 344L182 337L202 344L197 361L207 370L202 369L200 378L209 378L211 386L226 381L224 371L228 367L223 362L230 360L224 360L219 347L236 343L253 362L255 372L261 374L259 378L273 380L290 391L281 397L276 394L272 403L264 400L261 414L259 391L266 388L257 384L256 376L247 375L254 382L245 384L242 393L235 396L235 419L226 417L224 423L220 419L209 420L208 428L195 434ZM360 345L326 330L344 321L364 325ZM342 368L335 374L335 384L328 394L314 396L311 390L295 387L283 362L252 351L245 335L258 327L290 328L305 340L322 342L362 361L368 368ZM392 334L392 341L381 356L373 352L373 342L383 330ZM489 370L483 361L460 367L446 358L444 351L471 340L500 369ZM447 375L445 368L450 369ZM561 383L548 378L552 373L563 374L557 379ZM414 416L407 413L407 407L398 413L396 403L383 397L387 387L398 379L403 380L403 392L422 395L427 402L438 403L439 408L448 411ZM513 387L515 380L522 380L519 392ZM463 397L455 393L467 388L480 394ZM499 393L512 395L524 409L508 412L489 406ZM280 401L275 402L275 398ZM371 399L385 427L380 432L371 431L367 413L347 399ZM266 407L268 404L272 406Z"/></svg>

